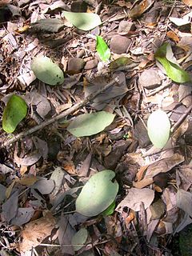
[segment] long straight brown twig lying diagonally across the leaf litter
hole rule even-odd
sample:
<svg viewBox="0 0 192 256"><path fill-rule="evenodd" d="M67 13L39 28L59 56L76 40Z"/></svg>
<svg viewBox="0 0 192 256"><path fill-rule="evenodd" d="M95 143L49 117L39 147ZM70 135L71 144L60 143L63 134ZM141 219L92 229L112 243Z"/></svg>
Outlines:
<svg viewBox="0 0 192 256"><path fill-rule="evenodd" d="M54 118L50 118L50 119L46 120L45 122L42 122L38 126L32 127L30 130L23 131L20 134L15 135L13 138L8 139L6 142L2 143L2 147L10 146L10 144L17 142L19 139L24 138L30 134L34 134L34 132L36 132L46 126L49 126L51 123L57 122L59 119L65 118L69 114L73 114L78 109L82 108L83 106L86 106L86 104L88 102L90 102L91 100L93 100L96 96L98 96L98 94L102 94L105 90L109 89L110 86L113 86L115 83L118 83L118 82L119 82L119 78L118 77L114 78L111 82L107 83L101 89L95 91L93 94L88 95L81 102L74 104L74 106L72 106L70 109L65 110L62 113L54 116Z"/></svg>

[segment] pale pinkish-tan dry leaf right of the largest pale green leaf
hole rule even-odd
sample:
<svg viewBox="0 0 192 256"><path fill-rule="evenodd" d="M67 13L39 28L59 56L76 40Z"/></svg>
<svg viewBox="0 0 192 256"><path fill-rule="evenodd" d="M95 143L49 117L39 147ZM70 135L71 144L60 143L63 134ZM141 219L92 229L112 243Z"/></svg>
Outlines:
<svg viewBox="0 0 192 256"><path fill-rule="evenodd" d="M140 210L141 202L143 202L145 210L150 207L151 203L154 200L154 190L147 188L137 189L131 188L129 193L126 195L126 198L120 202L116 208L117 211L122 212L123 207L129 207L134 211Z"/></svg>

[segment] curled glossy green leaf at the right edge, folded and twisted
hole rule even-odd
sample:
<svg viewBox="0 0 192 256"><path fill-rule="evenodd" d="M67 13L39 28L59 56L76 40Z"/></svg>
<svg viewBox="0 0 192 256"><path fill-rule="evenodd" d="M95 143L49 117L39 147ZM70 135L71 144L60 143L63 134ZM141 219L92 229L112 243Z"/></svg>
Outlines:
<svg viewBox="0 0 192 256"><path fill-rule="evenodd" d="M186 72L186 70L182 70L180 66L178 66L177 62L170 61L170 58L167 58L167 50L170 49L170 44L164 43L154 54L154 57L162 64L164 67L167 76L172 79L174 82L189 82L190 75Z"/></svg>

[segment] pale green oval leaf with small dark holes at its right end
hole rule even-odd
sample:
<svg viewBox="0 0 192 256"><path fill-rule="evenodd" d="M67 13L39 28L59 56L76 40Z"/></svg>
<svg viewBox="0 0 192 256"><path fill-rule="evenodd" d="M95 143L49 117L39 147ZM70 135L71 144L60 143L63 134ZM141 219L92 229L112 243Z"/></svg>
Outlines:
<svg viewBox="0 0 192 256"><path fill-rule="evenodd" d="M38 56L31 63L34 75L50 86L60 85L64 82L63 72L60 67L45 56Z"/></svg>

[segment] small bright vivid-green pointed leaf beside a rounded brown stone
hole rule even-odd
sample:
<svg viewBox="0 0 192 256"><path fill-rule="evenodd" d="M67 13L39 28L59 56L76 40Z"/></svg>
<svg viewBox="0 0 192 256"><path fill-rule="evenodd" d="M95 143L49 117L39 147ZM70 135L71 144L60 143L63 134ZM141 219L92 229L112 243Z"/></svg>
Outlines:
<svg viewBox="0 0 192 256"><path fill-rule="evenodd" d="M98 52L99 58L101 58L101 60L103 62L108 62L109 61L109 59L110 59L110 48L107 46L106 42L99 35L97 35L96 50Z"/></svg>

